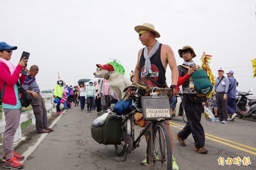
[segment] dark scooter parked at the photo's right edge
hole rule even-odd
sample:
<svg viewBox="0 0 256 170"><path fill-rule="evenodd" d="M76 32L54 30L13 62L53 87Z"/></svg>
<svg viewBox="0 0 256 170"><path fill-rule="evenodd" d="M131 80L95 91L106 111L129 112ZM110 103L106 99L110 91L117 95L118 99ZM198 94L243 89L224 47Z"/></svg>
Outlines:
<svg viewBox="0 0 256 170"><path fill-rule="evenodd" d="M254 90L253 88L250 88L250 91L253 91L253 90ZM249 92L239 93L239 96L241 97L238 98L238 101L236 103L237 115L239 118L243 118L243 119L245 119L246 117L256 119L256 100L248 102L248 105L250 107L249 110L246 107L247 105L246 96L253 95L253 94L250 94Z"/></svg>

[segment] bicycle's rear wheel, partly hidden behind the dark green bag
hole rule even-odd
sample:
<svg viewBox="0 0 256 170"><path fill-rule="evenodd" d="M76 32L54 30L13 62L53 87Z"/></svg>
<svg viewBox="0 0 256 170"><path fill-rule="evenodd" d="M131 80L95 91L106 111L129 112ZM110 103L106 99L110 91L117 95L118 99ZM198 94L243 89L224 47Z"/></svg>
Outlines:
<svg viewBox="0 0 256 170"><path fill-rule="evenodd" d="M122 126L122 129L128 134L131 135L131 120L128 118ZM116 154L118 156L123 156L126 152L124 139L121 139L121 144L115 144Z"/></svg>

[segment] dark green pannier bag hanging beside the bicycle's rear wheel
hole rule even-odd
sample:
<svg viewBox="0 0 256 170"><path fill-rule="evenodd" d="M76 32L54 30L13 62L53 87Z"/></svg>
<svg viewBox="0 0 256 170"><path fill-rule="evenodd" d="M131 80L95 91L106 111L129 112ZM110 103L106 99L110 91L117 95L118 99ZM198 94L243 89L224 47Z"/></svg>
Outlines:
<svg viewBox="0 0 256 170"><path fill-rule="evenodd" d="M101 126L91 125L91 133L93 139L99 144L121 144L122 117L108 114Z"/></svg>

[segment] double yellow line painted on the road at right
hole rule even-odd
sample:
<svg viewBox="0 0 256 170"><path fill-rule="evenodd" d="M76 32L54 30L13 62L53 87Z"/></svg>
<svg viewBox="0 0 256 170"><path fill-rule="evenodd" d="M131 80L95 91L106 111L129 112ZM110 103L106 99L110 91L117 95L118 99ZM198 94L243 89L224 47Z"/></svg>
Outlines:
<svg viewBox="0 0 256 170"><path fill-rule="evenodd" d="M176 124L176 123L173 123L173 122L169 122L169 124L170 124L170 126L172 126L172 127L176 127L176 128L178 128L178 129L182 130L182 128L179 128L179 127L182 127L182 125L180 125L180 124ZM255 147L250 147L250 146L247 146L247 145L244 145L244 144L237 143L237 142L235 142L235 141L230 141L230 140L225 139L225 138L220 138L220 137L215 136L215 135L210 135L209 133L204 133L204 134L206 135L205 138L207 138L207 139L210 139L210 140L212 140L212 141L216 141L216 142L218 142L218 143L225 144L225 145L227 145L227 146L234 147L234 148L236 148L236 149L238 149L238 150L242 150L242 151L244 151L244 152L247 152L247 153L251 153L251 154L253 154L253 155L256 155L256 152L253 152L253 151L250 151L250 150L241 148L241 147L245 147L245 148L248 148L248 149L251 149L251 150L256 150ZM209 136L211 136L211 137L213 137L213 138L211 138L211 137L209 137ZM215 138L217 138L217 139L215 139ZM218 139L223 140L223 141L220 141L220 140L218 140ZM229 142L229 143L232 143L232 144L226 143L226 142L224 142L224 141ZM239 145L239 146L241 146L241 147L238 147L238 146L233 145L233 144Z"/></svg>

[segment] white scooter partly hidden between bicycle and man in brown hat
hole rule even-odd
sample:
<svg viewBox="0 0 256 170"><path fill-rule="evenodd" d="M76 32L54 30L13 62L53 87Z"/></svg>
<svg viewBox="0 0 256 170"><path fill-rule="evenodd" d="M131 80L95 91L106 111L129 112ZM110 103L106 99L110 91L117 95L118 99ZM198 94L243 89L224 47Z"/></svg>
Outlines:
<svg viewBox="0 0 256 170"><path fill-rule="evenodd" d="M182 98L183 98L182 93L179 93L179 95L177 95L176 98L177 98L177 104L176 104L176 108L173 110L174 115L172 115L172 118L182 116L183 121L185 123L187 123L188 122L188 118L186 117L184 105L183 105L183 102L182 102Z"/></svg>

